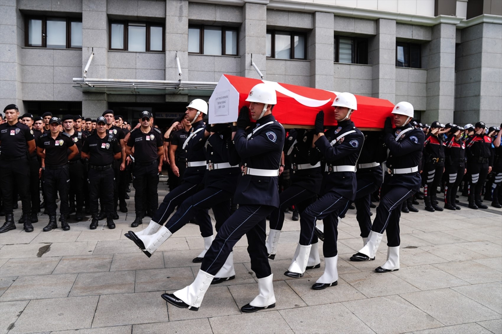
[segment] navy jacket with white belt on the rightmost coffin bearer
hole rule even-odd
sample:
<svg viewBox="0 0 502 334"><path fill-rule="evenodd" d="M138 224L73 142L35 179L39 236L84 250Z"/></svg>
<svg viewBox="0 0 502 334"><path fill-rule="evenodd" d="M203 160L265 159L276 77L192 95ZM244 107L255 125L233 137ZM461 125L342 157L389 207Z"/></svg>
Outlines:
<svg viewBox="0 0 502 334"><path fill-rule="evenodd" d="M402 131L412 127L412 130L401 134ZM401 130L401 131L398 131ZM396 135L397 133L397 135ZM389 148L387 168L402 169L418 166L419 171L408 174L388 174L385 176L386 185L403 186L411 190L419 191L422 183L420 177L420 163L424 147L424 132L421 129L406 124L396 129L394 134L387 133L384 137L385 144ZM398 138L398 140L396 140Z"/></svg>

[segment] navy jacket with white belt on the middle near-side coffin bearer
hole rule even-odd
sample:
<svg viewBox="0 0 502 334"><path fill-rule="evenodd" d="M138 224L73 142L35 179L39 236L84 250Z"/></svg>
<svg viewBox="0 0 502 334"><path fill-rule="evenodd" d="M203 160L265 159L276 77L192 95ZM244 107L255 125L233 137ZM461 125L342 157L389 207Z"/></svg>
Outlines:
<svg viewBox="0 0 502 334"><path fill-rule="evenodd" d="M336 140L346 132L354 131ZM331 144L331 142L333 144ZM354 126L351 120L338 122L337 127L328 129L324 136L320 136L314 143L323 155L326 164L332 166L354 166L364 143L364 136ZM323 191L334 191L346 199L353 201L357 189L357 180L354 172L324 172Z"/></svg>

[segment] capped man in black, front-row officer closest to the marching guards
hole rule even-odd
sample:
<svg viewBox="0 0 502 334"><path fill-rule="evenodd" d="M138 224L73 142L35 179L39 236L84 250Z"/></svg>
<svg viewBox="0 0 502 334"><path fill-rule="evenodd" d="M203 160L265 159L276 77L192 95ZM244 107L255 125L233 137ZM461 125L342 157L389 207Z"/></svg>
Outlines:
<svg viewBox="0 0 502 334"><path fill-rule="evenodd" d="M162 159L164 154L164 139L162 132L150 126L152 113L143 111L141 113L141 126L131 131L127 142L126 154L134 156L133 186L136 189L134 196L134 207L136 211L135 222L142 224L142 218L147 208L143 207L146 193L147 203L151 207L149 211L157 211L159 195L157 186L159 185L159 174L162 171ZM134 147L134 152L133 152ZM137 225L137 226L138 226Z"/></svg>

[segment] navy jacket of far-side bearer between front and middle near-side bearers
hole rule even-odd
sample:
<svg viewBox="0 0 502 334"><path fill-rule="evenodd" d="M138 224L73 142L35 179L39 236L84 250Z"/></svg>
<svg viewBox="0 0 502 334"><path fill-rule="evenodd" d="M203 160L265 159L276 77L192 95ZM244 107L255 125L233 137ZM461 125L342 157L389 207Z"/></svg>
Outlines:
<svg viewBox="0 0 502 334"><path fill-rule="evenodd" d="M298 169L298 164L315 165L321 160L318 149L312 147L313 130L291 129L284 142L284 154L291 157L291 182L316 194L321 192L321 167Z"/></svg>

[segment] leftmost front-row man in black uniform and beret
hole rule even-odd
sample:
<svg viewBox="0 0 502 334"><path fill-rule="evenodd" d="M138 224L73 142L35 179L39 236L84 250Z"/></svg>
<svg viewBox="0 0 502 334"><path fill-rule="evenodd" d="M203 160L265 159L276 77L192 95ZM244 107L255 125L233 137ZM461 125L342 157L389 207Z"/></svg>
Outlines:
<svg viewBox="0 0 502 334"><path fill-rule="evenodd" d="M30 165L29 156L35 149L35 140L28 126L18 121L19 109L9 104L4 109L7 122L0 124L0 192L2 192L5 210L5 224L0 233L15 230L13 192L17 189L21 197L23 223L26 232L32 232L30 222ZM17 200L17 199L16 199Z"/></svg>

